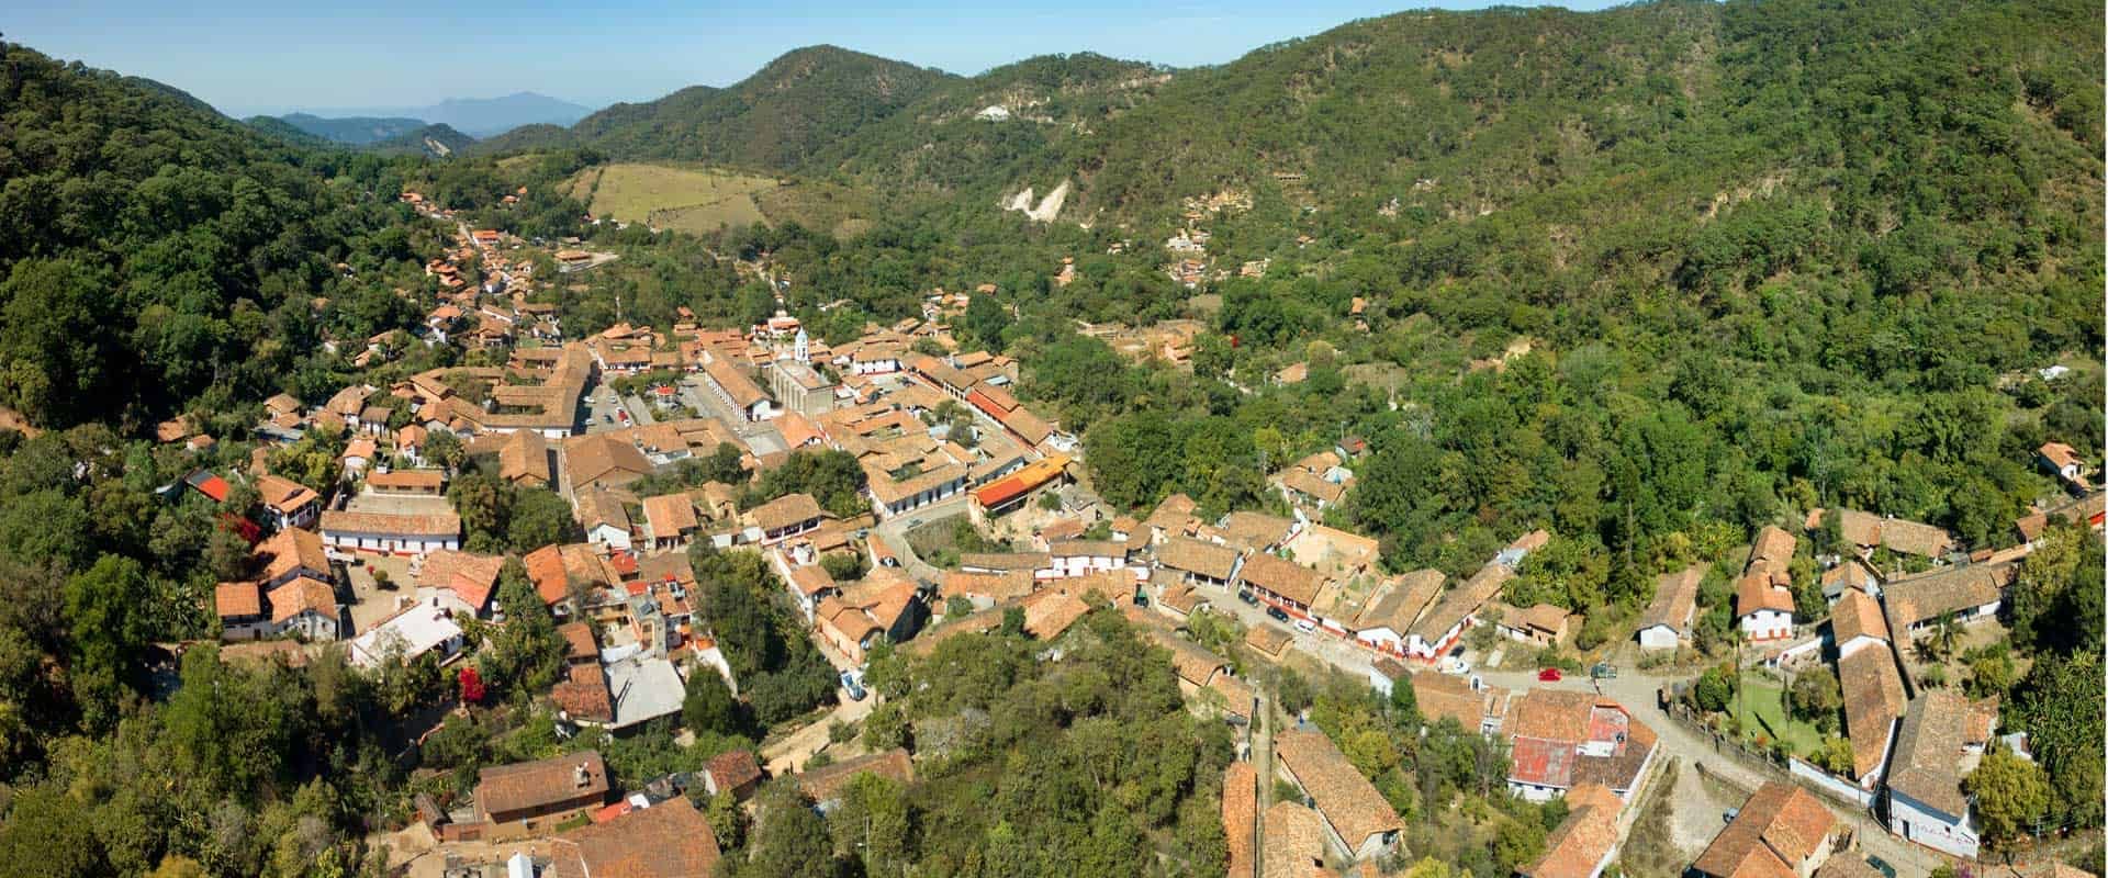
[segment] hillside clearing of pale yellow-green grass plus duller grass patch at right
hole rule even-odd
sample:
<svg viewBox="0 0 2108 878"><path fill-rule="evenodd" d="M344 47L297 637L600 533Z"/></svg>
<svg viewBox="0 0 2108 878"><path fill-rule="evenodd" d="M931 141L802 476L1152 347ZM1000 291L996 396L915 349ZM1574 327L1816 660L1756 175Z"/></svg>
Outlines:
<svg viewBox="0 0 2108 878"><path fill-rule="evenodd" d="M797 221L837 236L871 227L868 194L833 183L786 183L736 171L618 162L580 171L573 198L597 217L662 230L715 232L725 225Z"/></svg>

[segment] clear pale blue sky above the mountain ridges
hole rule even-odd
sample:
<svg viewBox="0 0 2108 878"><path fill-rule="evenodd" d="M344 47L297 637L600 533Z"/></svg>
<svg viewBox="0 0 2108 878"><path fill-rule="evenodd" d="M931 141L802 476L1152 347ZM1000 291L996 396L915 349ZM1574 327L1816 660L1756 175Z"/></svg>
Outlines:
<svg viewBox="0 0 2108 878"><path fill-rule="evenodd" d="M1269 42L1400 8L1488 2L373 0L299 6L297 0L30 2L0 19L0 32L8 42L162 80L221 112L247 116L424 105L514 91L588 105L647 101L689 84L738 82L776 55L818 42L955 74L1077 51L1185 67L1231 61Z"/></svg>

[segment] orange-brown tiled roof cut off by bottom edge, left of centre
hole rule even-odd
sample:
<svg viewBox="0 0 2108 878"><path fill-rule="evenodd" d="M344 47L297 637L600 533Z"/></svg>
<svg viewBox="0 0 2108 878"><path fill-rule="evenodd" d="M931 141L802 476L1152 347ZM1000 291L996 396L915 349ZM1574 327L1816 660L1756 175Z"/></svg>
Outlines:
<svg viewBox="0 0 2108 878"><path fill-rule="evenodd" d="M721 851L710 821L675 796L550 840L557 872L590 878L708 878Z"/></svg>

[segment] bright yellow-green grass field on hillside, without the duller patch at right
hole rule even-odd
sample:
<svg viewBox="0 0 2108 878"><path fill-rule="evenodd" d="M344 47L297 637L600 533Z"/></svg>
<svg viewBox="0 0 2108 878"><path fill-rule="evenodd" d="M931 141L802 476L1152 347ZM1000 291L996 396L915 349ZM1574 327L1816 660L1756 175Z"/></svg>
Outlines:
<svg viewBox="0 0 2108 878"><path fill-rule="evenodd" d="M755 196L774 187L772 177L630 162L571 177L571 196L597 217L683 232L767 223Z"/></svg>

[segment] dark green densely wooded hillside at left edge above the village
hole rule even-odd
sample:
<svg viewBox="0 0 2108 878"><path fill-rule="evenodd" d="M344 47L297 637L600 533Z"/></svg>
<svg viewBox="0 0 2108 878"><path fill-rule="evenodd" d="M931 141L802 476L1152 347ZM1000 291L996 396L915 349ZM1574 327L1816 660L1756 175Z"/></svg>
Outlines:
<svg viewBox="0 0 2108 878"><path fill-rule="evenodd" d="M384 158L13 42L0 61L0 406L42 427L139 425L200 396L261 398L312 362L310 297L344 303L352 333L413 307L382 282L415 276L392 227L407 213L360 194Z"/></svg>

